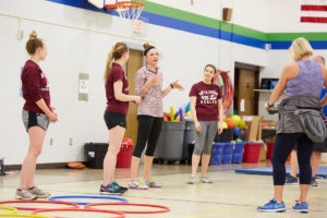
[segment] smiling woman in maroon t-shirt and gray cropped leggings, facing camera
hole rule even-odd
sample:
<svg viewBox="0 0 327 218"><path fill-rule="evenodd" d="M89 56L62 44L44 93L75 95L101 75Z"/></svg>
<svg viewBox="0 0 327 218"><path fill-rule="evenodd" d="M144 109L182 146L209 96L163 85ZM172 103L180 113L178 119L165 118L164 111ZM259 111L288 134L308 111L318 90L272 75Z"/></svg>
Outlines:
<svg viewBox="0 0 327 218"><path fill-rule="evenodd" d="M213 84L216 68L207 64L204 70L204 80L194 84L190 92L191 113L195 125L195 145L192 155L192 175L189 184L195 183L195 173L198 167L202 154L202 175L201 181L211 183L213 181L206 175L210 149L215 135L222 132L223 108L221 100L220 87ZM218 125L219 120L219 126Z"/></svg>

